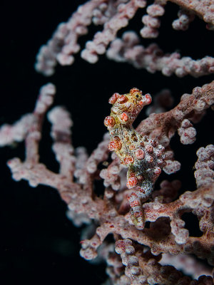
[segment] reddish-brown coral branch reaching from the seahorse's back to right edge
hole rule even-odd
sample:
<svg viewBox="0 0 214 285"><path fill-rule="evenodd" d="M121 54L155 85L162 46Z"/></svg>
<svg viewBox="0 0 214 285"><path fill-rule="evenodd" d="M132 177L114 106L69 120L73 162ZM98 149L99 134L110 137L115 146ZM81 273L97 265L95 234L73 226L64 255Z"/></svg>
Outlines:
<svg viewBox="0 0 214 285"><path fill-rule="evenodd" d="M161 114L151 114L138 125L137 130L139 133L150 135L151 138L157 138L164 146L167 146L184 119L194 120L213 103L214 81L201 88L194 88L192 94L184 94L180 103L172 110Z"/></svg>

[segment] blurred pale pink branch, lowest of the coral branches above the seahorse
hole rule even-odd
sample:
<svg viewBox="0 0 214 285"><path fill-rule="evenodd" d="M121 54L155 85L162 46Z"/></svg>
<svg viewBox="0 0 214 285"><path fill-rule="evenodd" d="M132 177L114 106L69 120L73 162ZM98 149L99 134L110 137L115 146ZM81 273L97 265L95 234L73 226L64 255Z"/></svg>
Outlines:
<svg viewBox="0 0 214 285"><path fill-rule="evenodd" d="M187 56L180 58L178 52L164 54L156 43L145 48L133 31L123 33L122 38L112 41L107 57L114 61L131 63L136 68L146 68L151 73L161 71L165 76L175 73L178 77L188 74L199 77L214 72L214 58L211 56L195 61Z"/></svg>

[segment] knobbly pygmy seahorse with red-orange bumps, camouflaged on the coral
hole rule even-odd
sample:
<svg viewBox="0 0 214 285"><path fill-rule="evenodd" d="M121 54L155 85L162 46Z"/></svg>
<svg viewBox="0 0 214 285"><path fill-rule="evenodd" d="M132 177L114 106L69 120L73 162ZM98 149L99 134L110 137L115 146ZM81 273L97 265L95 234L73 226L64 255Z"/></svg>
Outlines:
<svg viewBox="0 0 214 285"><path fill-rule="evenodd" d="M154 182L161 174L164 165L164 147L157 140L140 135L132 124L144 105L151 103L151 95L142 95L142 91L132 88L130 93L114 93L109 99L113 104L111 114L104 120L111 141L108 148L115 151L123 165L128 167L127 187L136 187L129 199L133 222L136 227L143 227L141 201L153 191Z"/></svg>

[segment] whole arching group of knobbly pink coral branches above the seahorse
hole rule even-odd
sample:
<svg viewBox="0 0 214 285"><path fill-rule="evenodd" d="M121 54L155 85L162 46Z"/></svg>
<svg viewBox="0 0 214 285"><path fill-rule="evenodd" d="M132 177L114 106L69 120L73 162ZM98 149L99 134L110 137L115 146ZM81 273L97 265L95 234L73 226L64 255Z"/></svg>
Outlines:
<svg viewBox="0 0 214 285"><path fill-rule="evenodd" d="M197 15L208 23L207 28L213 29L214 17L213 0L168 0L180 6L179 19L173 22L173 28L185 30L190 21ZM160 26L159 16L164 14L164 6L167 0L156 0L147 7L148 15L143 16L141 36L144 38L156 38ZM89 63L96 63L98 55L106 53L108 44L108 58L116 61L128 61L137 68L146 68L154 73L162 71L165 76L175 73L182 77L187 74L198 77L213 73L213 58L207 56L198 61L190 57L180 58L179 53L165 54L156 44L148 48L136 45L138 39L135 36L125 36L122 40L116 38L117 32L128 25L128 21L135 16L139 8L147 5L146 0L91 0L78 7L78 10L68 19L67 23L61 23L49 42L41 46L37 56L36 70L51 76L54 73L56 62L61 65L71 65L74 61L73 54L80 50L78 38L88 33L88 28L93 24L103 24L103 31L95 34L92 41L86 42L86 48L81 51L81 57ZM132 32L131 32L132 33Z"/></svg>

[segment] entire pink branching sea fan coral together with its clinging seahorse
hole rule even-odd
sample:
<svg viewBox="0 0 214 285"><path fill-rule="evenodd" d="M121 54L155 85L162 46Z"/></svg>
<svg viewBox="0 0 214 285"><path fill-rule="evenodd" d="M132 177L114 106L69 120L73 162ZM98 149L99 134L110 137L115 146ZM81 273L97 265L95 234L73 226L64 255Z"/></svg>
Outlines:
<svg viewBox="0 0 214 285"><path fill-rule="evenodd" d="M199 16L207 28L213 29L213 1L172 2L180 6L173 28L185 30L194 17ZM140 33L143 38L156 38L166 4L165 0L155 0L149 6L144 0L87 1L67 23L58 26L53 38L41 48L36 70L50 76L56 62L73 63L73 54L80 50L78 38L87 33L87 26L93 21L93 24L103 25L103 31L96 33L81 51L81 57L89 63L95 63L99 55L106 53L115 61L128 62L151 73L161 71L165 76L175 73L178 77L199 77L214 73L211 56L199 60L180 58L177 52L163 54L155 43L144 48L133 31L116 38L117 32L128 25L136 11L146 6L147 14L142 20L145 26ZM132 123L143 106L151 103L151 95L143 95L137 88L123 95L114 93L109 100L113 105L111 114L104 120L110 138L105 134L89 157L83 147L73 148L73 122L68 111L54 107L47 113L47 118L54 141L52 150L60 166L58 173L39 161L43 122L55 93L54 84L46 84L40 90L32 113L24 115L14 125L5 124L0 128L1 146L25 141L25 160L22 162L15 157L8 162L13 179L27 180L31 187L41 184L56 189L68 205L68 217L73 224L79 226L96 221L93 234L88 227L88 235L81 241L81 257L105 259L111 284L213 284L210 269L203 269L188 254L214 265L214 145L201 146L197 152L195 191L185 191L179 197L178 180L163 180L160 189L157 186L154 189L154 185L162 169L167 174L180 169L180 162L173 158L170 140L178 132L182 144L195 142L195 124L214 103L214 81L195 87L192 94L181 95L178 105L168 111L164 111L164 107L170 106L170 95L163 91L151 108L162 113L149 111L148 118L142 120L136 130ZM158 103L161 94L165 99ZM108 164L110 150L114 152ZM106 165L103 170L98 168L101 162ZM101 179L105 190L103 197L98 197L93 185ZM191 237L185 229L182 215L186 212L198 217L200 237ZM149 228L145 227L146 222L150 222ZM115 244L106 242L108 234L113 235ZM165 265L170 260L172 264L178 264L182 259L185 264L197 265L191 265L191 273L187 268L187 274L192 274L193 278L198 278L194 268L208 276L193 280L180 273L182 266Z"/></svg>

